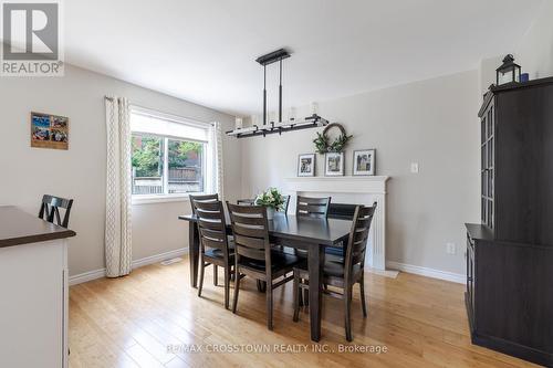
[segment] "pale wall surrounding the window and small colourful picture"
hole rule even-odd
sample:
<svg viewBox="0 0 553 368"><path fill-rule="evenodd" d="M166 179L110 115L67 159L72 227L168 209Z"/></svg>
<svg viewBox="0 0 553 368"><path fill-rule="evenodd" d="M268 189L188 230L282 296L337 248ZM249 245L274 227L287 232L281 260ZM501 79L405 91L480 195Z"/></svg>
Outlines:
<svg viewBox="0 0 553 368"><path fill-rule="evenodd" d="M77 236L70 242L70 274L104 267L105 107L104 95L128 97L132 103L223 128L233 117L67 65L64 77L1 78L0 81L0 203L38 213L43 193L74 198L70 227ZM70 149L30 147L30 113L70 118ZM240 145L223 139L226 194L238 197ZM133 207L133 259L186 246L187 225L177 220L189 212L188 202Z"/></svg>

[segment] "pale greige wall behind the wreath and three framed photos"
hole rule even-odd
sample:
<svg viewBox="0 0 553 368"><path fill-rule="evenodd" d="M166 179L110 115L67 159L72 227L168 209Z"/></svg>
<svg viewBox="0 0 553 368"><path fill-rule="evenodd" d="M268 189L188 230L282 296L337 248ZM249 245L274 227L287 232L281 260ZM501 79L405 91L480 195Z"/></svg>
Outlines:
<svg viewBox="0 0 553 368"><path fill-rule="evenodd" d="M477 71L321 102L320 115L353 134L353 149L376 148L388 182L387 260L463 273L465 222L479 221L479 81ZM305 109L305 108L304 108ZM299 154L313 153L313 129L241 139L242 196L283 187ZM323 156L317 155L322 176ZM420 172L410 174L410 162ZM446 253L446 243L457 254Z"/></svg>

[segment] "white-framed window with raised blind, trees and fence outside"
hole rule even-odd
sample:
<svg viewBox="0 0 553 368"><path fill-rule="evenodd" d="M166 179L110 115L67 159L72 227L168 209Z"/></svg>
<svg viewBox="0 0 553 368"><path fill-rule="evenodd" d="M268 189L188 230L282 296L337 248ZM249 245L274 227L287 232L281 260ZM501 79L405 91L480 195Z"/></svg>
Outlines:
<svg viewBox="0 0 553 368"><path fill-rule="evenodd" d="M134 198L207 191L209 124L133 108L131 129Z"/></svg>

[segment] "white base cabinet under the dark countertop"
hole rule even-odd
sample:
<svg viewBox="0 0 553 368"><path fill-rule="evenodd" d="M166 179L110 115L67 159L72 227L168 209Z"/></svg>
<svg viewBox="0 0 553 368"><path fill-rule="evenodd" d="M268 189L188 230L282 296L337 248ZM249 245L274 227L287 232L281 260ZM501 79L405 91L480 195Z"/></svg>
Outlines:
<svg viewBox="0 0 553 368"><path fill-rule="evenodd" d="M67 240L0 248L0 367L67 367Z"/></svg>

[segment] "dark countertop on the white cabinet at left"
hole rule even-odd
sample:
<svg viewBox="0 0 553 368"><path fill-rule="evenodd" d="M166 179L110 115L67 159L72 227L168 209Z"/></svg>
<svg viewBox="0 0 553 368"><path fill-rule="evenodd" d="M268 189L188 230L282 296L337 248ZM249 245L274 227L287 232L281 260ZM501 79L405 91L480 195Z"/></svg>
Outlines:
<svg viewBox="0 0 553 368"><path fill-rule="evenodd" d="M0 207L0 248L75 236L64 229L13 206Z"/></svg>

